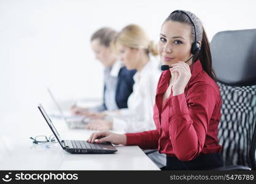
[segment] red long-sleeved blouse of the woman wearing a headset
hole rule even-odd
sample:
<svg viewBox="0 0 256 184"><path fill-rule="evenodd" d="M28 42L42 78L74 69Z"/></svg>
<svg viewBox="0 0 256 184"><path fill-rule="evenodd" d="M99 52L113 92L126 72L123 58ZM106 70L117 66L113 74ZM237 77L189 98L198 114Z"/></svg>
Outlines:
<svg viewBox="0 0 256 184"><path fill-rule="evenodd" d="M171 72L161 74L153 109L157 129L126 134L127 145L158 148L160 153L176 156L180 161L221 150L217 138L222 104L219 87L203 71L199 60L190 66L190 71L192 77L185 93L177 96L171 93L163 104Z"/></svg>

